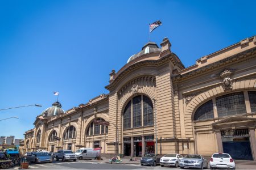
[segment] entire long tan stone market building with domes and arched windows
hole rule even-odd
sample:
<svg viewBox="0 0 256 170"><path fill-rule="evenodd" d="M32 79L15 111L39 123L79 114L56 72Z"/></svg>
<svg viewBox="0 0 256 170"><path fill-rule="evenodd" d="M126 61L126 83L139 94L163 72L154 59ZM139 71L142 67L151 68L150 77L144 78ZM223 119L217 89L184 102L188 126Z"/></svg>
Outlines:
<svg viewBox="0 0 256 170"><path fill-rule="evenodd" d="M109 156L157 150L256 160L256 36L187 68L167 38L160 47L148 42L105 88L108 95L68 111L53 103L24 134L23 151L101 147Z"/></svg>

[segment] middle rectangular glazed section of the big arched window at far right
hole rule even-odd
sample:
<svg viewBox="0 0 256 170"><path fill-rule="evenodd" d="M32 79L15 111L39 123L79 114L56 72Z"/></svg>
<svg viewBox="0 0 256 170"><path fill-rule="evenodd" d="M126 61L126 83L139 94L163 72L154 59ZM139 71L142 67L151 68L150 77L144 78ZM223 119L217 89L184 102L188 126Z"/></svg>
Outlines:
<svg viewBox="0 0 256 170"><path fill-rule="evenodd" d="M216 98L218 117L246 113L243 92L236 92Z"/></svg>

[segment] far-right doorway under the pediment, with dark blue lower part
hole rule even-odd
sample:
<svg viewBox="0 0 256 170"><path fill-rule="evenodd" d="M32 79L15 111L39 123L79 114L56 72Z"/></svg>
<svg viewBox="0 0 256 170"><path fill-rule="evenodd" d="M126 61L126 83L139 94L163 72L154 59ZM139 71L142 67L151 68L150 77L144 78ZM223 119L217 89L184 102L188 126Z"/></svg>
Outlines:
<svg viewBox="0 0 256 170"><path fill-rule="evenodd" d="M253 160L248 129L221 131L223 151L233 159Z"/></svg>

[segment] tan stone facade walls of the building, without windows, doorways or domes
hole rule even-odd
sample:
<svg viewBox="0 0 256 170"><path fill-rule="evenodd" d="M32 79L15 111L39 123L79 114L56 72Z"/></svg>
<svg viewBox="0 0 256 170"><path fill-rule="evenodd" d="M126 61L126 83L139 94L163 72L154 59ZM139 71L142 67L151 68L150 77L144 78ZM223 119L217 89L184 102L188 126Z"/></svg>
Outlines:
<svg viewBox="0 0 256 170"><path fill-rule="evenodd" d="M67 113L45 119L38 117L35 128L26 133L26 151L40 149L55 151L72 144L72 150L81 147L94 147L100 142L102 154L124 154L123 138L154 135L154 145L158 154L203 154L211 155L221 150L220 131L230 128L250 129L250 140L255 141L256 113L252 113L247 91L256 90L256 37L241 41L196 61L196 65L184 68L179 58L171 52L168 39L161 43L159 53L144 54L142 59L135 58L122 69L110 74L110 83L106 88L109 95L97 96L89 103L72 108ZM222 77L225 70L231 70ZM229 78L229 88L224 79ZM230 88L230 83L232 88ZM246 113L229 117L218 117L216 97L233 92L243 92ZM153 103L155 121L152 126L123 129L123 112L126 104L138 95L145 95ZM214 118L194 121L193 116L202 104L213 100ZM86 131L95 118L110 122L108 133L86 135ZM239 120L239 121L238 121ZM230 125L230 126L228 126ZM231 127L231 125L233 125ZM76 128L76 138L63 139L69 126ZM42 131L42 138L37 144L36 134ZM60 141L49 142L52 131L57 132ZM31 135L29 135L31 134ZM254 134L254 135L253 135ZM34 143L31 141L34 140ZM26 142L28 145L26 145ZM117 141L119 145L117 146ZM156 145L156 143L158 143ZM131 145L131 155L133 155ZM256 146L251 145L254 160ZM144 154L144 150L142 153Z"/></svg>

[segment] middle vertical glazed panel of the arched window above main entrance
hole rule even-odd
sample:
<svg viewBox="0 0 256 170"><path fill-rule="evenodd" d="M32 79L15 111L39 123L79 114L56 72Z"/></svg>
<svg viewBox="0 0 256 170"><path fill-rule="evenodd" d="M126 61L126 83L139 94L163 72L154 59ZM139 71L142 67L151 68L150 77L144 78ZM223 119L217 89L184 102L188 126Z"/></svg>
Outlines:
<svg viewBox="0 0 256 170"><path fill-rule="evenodd" d="M141 96L133 98L133 128L141 127Z"/></svg>

